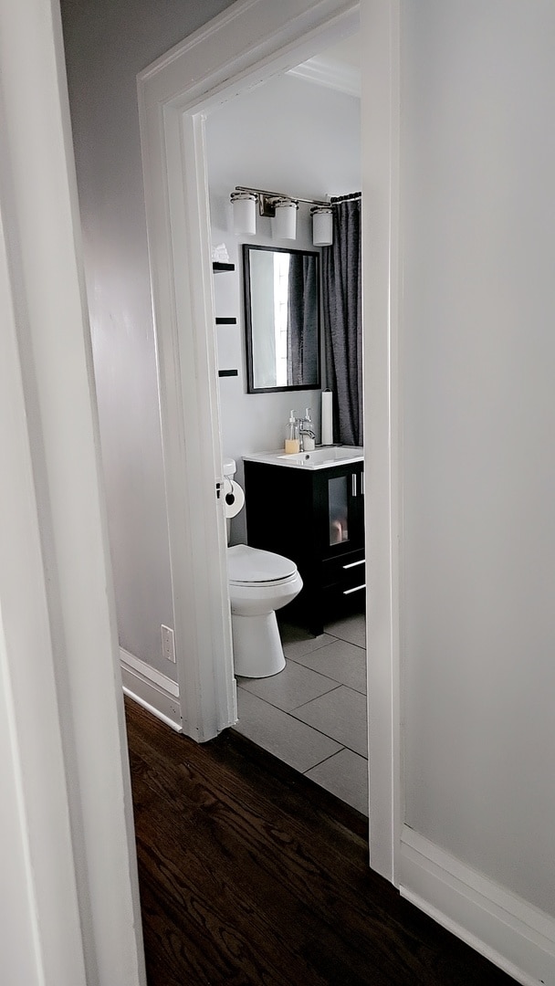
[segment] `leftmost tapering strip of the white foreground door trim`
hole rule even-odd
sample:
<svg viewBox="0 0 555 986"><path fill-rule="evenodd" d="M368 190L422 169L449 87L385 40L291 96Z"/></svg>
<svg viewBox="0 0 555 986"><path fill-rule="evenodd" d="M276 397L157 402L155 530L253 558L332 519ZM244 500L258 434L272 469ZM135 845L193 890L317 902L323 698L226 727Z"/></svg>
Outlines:
<svg viewBox="0 0 555 986"><path fill-rule="evenodd" d="M0 869L3 976L85 986L55 656L0 199ZM40 655L40 661L36 656ZM37 742L37 735L40 741ZM56 887L55 894L52 888ZM52 905L52 901L56 906Z"/></svg>

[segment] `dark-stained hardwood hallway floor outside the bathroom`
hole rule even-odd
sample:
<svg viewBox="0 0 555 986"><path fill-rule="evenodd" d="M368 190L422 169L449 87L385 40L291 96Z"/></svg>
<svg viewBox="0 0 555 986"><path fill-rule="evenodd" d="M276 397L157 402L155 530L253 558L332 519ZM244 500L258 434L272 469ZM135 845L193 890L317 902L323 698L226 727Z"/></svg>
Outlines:
<svg viewBox="0 0 555 986"><path fill-rule="evenodd" d="M367 820L126 699L149 986L509 986L368 868Z"/></svg>

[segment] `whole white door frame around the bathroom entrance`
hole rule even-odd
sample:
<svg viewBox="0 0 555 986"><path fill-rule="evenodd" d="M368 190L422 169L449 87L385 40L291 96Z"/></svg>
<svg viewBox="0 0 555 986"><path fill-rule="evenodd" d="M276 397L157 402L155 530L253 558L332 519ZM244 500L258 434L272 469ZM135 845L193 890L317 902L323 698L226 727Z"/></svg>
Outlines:
<svg viewBox="0 0 555 986"><path fill-rule="evenodd" d="M377 87L369 100L375 110L371 124L378 140L385 142L378 153L382 167L375 176L369 167L372 133L365 141L363 159L363 171L370 175L363 184L365 243L370 245L365 247L365 289L372 299L365 308L365 346L376 360L366 374L366 385L377 385L377 399L367 401L373 459L367 510L374 517L374 528L379 521L381 530L378 538L367 525L369 581L373 594L384 603L376 606L371 599L369 609L371 862L393 879L393 751L398 743L392 692L397 594L391 576L396 573L392 537L393 529L396 536L396 506L392 506L396 487L391 484L396 440L391 428L396 417L390 401L396 390L390 378L396 371L390 323L396 313L392 296L397 289L392 205L396 184L391 180L396 163L392 168L391 158L396 153L398 125L393 99L398 27L391 17L395 3L366 0L364 7L365 45L377 58L373 78L369 75ZM294 67L358 26L359 4L354 0L281 0L279 4L238 0L138 77L177 674L183 729L198 740L215 736L236 719L225 523L215 493L222 467L202 111ZM378 226L373 226L375 218Z"/></svg>

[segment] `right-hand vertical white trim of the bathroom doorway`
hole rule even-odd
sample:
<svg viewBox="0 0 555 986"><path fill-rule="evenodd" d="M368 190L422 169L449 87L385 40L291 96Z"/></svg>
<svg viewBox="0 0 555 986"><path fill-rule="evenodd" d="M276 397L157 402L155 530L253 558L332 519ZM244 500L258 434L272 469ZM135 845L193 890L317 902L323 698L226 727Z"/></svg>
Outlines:
<svg viewBox="0 0 555 986"><path fill-rule="evenodd" d="M398 885L400 716L399 2L362 6L363 323L370 859Z"/></svg>

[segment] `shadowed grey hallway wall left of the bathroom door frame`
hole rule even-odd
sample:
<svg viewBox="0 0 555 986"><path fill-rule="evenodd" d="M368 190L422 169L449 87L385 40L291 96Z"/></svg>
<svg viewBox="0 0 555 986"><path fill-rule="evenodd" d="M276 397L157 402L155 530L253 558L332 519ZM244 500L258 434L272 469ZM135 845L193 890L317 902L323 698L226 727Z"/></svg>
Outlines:
<svg viewBox="0 0 555 986"><path fill-rule="evenodd" d="M120 645L175 676L136 75L231 0L62 0ZM94 52L94 56L92 55Z"/></svg>

